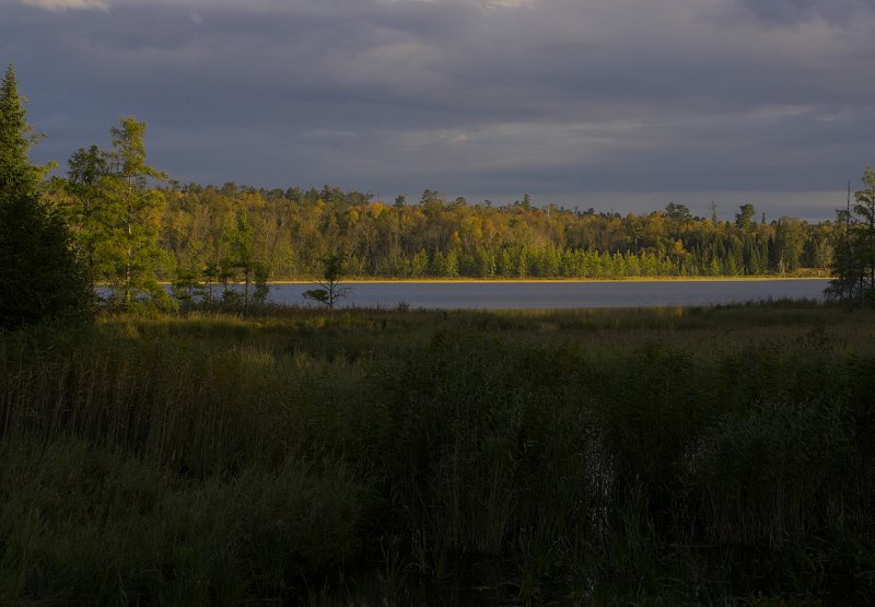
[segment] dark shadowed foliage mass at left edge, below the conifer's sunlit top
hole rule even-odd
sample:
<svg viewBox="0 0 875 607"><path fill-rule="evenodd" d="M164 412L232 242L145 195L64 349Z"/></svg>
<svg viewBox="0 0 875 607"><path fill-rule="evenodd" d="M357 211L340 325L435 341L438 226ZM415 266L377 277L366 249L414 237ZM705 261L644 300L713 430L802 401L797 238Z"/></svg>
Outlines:
<svg viewBox="0 0 875 607"><path fill-rule="evenodd" d="M62 219L38 200L0 199L0 329L84 317L93 292Z"/></svg>

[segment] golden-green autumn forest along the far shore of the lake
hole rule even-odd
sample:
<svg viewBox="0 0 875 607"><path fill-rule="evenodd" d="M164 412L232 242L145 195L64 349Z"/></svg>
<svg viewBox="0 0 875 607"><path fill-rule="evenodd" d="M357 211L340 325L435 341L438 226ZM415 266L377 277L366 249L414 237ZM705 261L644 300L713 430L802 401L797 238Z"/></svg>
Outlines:
<svg viewBox="0 0 875 607"><path fill-rule="evenodd" d="M86 186L82 173L74 157L68 178L51 185L52 199L70 210L74 224L90 200L79 195ZM536 208L528 196L502 207L448 201L430 189L413 203L404 196L385 203L331 186L172 184L153 194L166 278L232 278L261 265L275 280L306 279L328 256L343 259L357 277L607 279L822 271L832 258L830 223L757 221L749 203L731 222L693 217L679 203L622 217ZM93 195L97 203L101 198Z"/></svg>

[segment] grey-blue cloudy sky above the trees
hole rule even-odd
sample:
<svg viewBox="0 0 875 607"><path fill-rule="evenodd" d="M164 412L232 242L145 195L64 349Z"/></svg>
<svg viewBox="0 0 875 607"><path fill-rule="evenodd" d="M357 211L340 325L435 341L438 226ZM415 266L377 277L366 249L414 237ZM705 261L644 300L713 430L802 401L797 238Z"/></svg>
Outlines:
<svg viewBox="0 0 875 607"><path fill-rule="evenodd" d="M875 0L0 0L35 161L149 124L182 182L829 219Z"/></svg>

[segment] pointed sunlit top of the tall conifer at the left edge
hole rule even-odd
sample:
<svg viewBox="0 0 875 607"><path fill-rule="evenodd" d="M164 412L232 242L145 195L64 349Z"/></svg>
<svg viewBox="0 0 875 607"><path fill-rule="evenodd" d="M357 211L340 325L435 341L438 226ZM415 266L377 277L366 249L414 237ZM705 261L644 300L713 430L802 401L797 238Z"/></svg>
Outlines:
<svg viewBox="0 0 875 607"><path fill-rule="evenodd" d="M33 196L39 185L40 171L28 157L34 137L24 102L10 63L0 84L0 200Z"/></svg>

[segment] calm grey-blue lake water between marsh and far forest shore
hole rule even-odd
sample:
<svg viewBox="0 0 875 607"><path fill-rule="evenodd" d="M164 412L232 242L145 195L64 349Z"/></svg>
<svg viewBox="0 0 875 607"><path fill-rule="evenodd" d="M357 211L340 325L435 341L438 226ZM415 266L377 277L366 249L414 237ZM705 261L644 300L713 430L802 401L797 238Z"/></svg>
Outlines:
<svg viewBox="0 0 875 607"><path fill-rule="evenodd" d="M821 300L826 280L673 282L365 282L349 284L345 307L561 308L713 305L768 299ZM270 300L305 304L311 284L275 284Z"/></svg>

